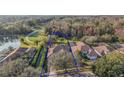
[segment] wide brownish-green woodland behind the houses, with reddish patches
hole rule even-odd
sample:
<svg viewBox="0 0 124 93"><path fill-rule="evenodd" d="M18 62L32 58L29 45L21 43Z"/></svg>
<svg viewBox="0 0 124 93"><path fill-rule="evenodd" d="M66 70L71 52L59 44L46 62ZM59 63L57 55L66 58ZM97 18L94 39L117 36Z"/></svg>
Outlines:
<svg viewBox="0 0 124 93"><path fill-rule="evenodd" d="M63 32L81 40L94 36L96 42L123 41L115 30L124 30L123 16L69 16L49 22L46 33ZM123 31L122 31L123 32ZM121 37L124 35L121 34ZM85 37L86 38L86 37Z"/></svg>

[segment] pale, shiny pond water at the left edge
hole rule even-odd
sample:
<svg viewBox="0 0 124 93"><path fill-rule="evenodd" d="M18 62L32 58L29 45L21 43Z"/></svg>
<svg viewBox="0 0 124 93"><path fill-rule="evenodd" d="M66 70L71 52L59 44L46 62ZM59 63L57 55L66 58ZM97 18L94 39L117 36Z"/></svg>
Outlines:
<svg viewBox="0 0 124 93"><path fill-rule="evenodd" d="M0 60L2 60L5 55L4 52L8 51L10 48L16 49L20 46L20 41L16 36L0 36Z"/></svg>

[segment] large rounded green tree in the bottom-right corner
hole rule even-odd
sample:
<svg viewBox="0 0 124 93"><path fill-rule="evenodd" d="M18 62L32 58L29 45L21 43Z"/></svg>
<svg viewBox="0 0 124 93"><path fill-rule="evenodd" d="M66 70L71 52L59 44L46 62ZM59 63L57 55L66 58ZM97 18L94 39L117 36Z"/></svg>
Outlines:
<svg viewBox="0 0 124 93"><path fill-rule="evenodd" d="M112 52L103 56L93 65L93 72L101 77L124 76L124 55Z"/></svg>

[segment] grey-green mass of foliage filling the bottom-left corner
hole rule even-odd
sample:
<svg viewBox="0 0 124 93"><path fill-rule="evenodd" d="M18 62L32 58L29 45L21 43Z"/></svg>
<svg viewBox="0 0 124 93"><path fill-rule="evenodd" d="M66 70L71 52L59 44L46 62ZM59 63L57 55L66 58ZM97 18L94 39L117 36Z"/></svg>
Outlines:
<svg viewBox="0 0 124 93"><path fill-rule="evenodd" d="M41 72L40 68L34 68L28 65L28 63L20 60L12 61L7 64L3 64L0 67L1 77L29 77L39 76Z"/></svg>

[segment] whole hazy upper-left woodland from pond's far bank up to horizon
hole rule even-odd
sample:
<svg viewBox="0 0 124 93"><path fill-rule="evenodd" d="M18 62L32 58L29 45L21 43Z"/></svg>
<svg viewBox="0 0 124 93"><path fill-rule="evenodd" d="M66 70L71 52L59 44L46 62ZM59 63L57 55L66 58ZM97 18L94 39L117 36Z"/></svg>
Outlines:
<svg viewBox="0 0 124 93"><path fill-rule="evenodd" d="M53 19L52 16L0 16L0 18L0 35L26 35L33 31L32 28Z"/></svg>

